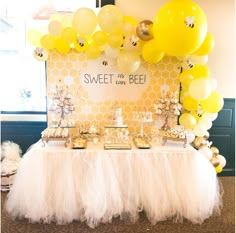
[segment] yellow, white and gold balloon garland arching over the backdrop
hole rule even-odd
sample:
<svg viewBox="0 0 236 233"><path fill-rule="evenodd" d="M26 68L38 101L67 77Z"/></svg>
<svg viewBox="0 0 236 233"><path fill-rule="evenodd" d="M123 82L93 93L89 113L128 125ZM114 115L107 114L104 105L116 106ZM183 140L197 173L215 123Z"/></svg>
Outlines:
<svg viewBox="0 0 236 233"><path fill-rule="evenodd" d="M208 31L205 13L191 0L171 0L157 11L153 21L141 22L123 15L115 5L103 6L98 14L83 7L74 14L53 15L46 34L29 30L27 40L36 47L34 57L39 61L46 61L52 50L61 54L75 50L88 59L104 53L123 73L136 72L142 60L155 64L164 56L176 57L181 62L183 105L179 123L196 138L207 135L223 108L217 81L210 78L206 66L214 36Z"/></svg>

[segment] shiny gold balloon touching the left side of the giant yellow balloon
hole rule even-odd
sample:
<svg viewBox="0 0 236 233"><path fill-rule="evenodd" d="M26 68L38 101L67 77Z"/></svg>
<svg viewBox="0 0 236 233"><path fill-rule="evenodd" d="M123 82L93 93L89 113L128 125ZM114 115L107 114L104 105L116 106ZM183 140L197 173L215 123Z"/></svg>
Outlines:
<svg viewBox="0 0 236 233"><path fill-rule="evenodd" d="M137 36L144 41L151 40L153 38L152 33L153 22L151 20L143 20L136 27Z"/></svg>

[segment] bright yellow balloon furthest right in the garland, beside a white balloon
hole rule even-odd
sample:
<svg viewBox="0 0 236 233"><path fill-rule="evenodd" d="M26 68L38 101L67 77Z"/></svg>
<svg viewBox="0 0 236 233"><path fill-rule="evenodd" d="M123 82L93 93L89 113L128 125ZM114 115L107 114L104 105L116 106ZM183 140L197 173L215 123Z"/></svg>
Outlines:
<svg viewBox="0 0 236 233"><path fill-rule="evenodd" d="M201 108L208 113L219 112L224 106L223 97L217 92L213 91L211 95L200 102Z"/></svg>

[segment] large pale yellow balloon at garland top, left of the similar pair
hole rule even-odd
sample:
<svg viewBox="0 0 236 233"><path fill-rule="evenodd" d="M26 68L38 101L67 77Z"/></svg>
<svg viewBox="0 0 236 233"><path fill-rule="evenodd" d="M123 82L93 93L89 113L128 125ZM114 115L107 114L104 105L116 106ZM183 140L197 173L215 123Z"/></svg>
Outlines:
<svg viewBox="0 0 236 233"><path fill-rule="evenodd" d="M97 26L97 16L92 9L79 8L72 19L73 28L82 36L92 34Z"/></svg>

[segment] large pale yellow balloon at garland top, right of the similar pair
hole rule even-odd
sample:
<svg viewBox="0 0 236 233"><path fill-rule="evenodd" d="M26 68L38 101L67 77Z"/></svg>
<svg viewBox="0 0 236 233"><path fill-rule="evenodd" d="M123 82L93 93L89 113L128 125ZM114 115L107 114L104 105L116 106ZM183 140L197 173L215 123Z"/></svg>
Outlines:
<svg viewBox="0 0 236 233"><path fill-rule="evenodd" d="M122 28L123 14L119 7L115 5L103 6L97 15L98 25L105 32L112 32Z"/></svg>

